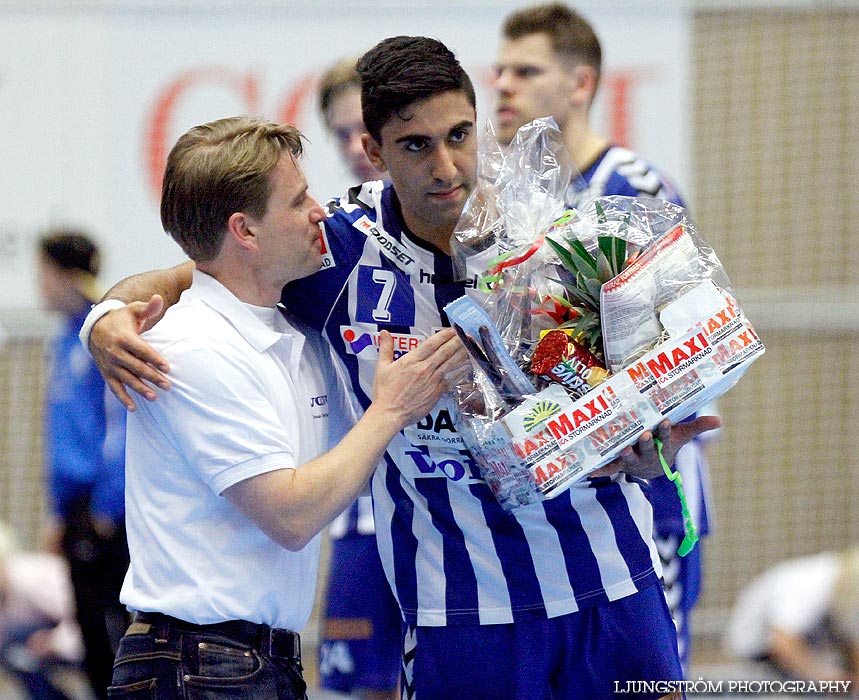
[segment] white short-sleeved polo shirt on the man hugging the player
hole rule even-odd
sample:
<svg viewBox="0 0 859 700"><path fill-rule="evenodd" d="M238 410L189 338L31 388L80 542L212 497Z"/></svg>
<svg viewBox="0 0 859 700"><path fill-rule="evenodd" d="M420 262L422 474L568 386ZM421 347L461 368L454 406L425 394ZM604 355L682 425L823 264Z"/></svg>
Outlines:
<svg viewBox="0 0 859 700"><path fill-rule="evenodd" d="M221 496L329 447L329 404L340 398L329 401L336 381L327 346L272 313L275 330L196 271L143 335L170 363L172 387L153 403L137 401L128 417L131 566L120 599L132 610L296 631L310 616L319 537L290 552Z"/></svg>

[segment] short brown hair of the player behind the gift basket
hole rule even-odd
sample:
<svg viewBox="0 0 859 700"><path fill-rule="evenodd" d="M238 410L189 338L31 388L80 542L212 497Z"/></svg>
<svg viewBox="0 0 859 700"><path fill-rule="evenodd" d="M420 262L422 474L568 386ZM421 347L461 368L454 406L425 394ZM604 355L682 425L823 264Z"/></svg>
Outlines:
<svg viewBox="0 0 859 700"><path fill-rule="evenodd" d="M533 5L511 14L504 21L505 39L521 39L529 34L545 34L555 53L576 63L602 68L599 38L584 17L563 3Z"/></svg>

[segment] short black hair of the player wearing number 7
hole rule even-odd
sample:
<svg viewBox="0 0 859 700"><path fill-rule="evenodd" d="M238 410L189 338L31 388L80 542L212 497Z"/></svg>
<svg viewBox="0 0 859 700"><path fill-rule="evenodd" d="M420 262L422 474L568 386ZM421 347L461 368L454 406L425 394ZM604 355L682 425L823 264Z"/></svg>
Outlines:
<svg viewBox="0 0 859 700"><path fill-rule="evenodd" d="M395 36L384 39L358 61L364 126L378 143L391 116L413 102L460 91L472 107L474 86L453 52L438 39Z"/></svg>

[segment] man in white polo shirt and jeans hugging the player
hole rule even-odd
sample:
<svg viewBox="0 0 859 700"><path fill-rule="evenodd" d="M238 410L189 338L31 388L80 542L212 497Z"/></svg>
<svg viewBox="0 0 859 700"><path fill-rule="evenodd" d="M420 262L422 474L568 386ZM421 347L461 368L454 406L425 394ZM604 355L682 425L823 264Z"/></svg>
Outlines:
<svg viewBox="0 0 859 700"><path fill-rule="evenodd" d="M145 334L172 389L128 420L121 600L137 613L113 692L305 697L294 630L313 604L318 534L464 359L446 330L394 362L383 332L375 400L325 451L348 427L348 402L321 337L276 306L322 261L325 212L296 162L301 138L223 119L168 157L161 219L196 270Z"/></svg>

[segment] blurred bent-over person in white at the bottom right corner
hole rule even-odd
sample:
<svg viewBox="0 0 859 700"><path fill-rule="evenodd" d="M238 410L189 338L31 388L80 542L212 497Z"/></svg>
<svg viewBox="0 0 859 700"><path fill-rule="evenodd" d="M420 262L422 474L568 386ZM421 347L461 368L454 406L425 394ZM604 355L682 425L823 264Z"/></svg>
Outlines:
<svg viewBox="0 0 859 700"><path fill-rule="evenodd" d="M780 675L859 688L859 547L792 559L739 595L727 646Z"/></svg>

